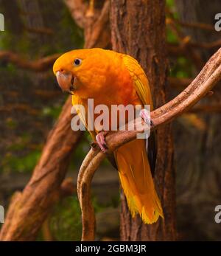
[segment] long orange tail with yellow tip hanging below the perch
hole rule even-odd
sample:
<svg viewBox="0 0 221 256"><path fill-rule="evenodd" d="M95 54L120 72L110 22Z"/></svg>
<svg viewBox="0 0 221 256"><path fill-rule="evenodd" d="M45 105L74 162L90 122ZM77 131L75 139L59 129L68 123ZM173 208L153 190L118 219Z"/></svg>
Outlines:
<svg viewBox="0 0 221 256"><path fill-rule="evenodd" d="M115 151L119 178L132 217L137 213L145 224L164 218L155 191L144 139L136 139Z"/></svg>

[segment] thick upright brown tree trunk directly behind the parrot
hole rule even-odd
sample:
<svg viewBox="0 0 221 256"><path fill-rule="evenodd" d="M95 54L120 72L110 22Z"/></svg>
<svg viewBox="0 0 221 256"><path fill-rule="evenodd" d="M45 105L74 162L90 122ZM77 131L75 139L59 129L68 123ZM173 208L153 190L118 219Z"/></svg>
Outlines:
<svg viewBox="0 0 221 256"><path fill-rule="evenodd" d="M155 108L166 103L165 2L162 0L111 1L113 49L136 58L150 81ZM164 208L164 220L147 225L131 218L122 193L121 238L123 241L174 241L175 170L171 125L157 131L158 153L155 185Z"/></svg>

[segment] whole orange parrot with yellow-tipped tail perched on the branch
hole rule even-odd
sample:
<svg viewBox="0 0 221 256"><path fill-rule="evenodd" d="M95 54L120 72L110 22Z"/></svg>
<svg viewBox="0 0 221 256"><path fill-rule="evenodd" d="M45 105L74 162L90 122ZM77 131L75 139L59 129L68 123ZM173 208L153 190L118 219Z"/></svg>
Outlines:
<svg viewBox="0 0 221 256"><path fill-rule="evenodd" d="M137 60L129 55L98 48L77 49L61 55L55 61L53 72L60 88L73 95L73 105L81 104L85 110L88 99L94 99L94 106L107 105L110 111L111 105L121 104L151 105L152 109L147 77ZM83 113L78 114L87 127L88 119L83 118ZM145 120L144 112L141 116ZM89 132L101 150L107 151L107 132ZM152 135L148 148L145 139L135 139L113 152L131 215L134 217L138 213L145 224L154 223L159 216L164 218L152 180L151 167L152 170L155 167Z"/></svg>

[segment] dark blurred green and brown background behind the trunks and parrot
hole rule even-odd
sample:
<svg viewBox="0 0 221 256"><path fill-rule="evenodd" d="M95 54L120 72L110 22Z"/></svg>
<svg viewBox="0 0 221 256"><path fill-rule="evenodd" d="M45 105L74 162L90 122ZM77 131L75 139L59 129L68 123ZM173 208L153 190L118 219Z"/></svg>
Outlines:
<svg viewBox="0 0 221 256"><path fill-rule="evenodd" d="M67 95L58 88L51 67L41 72L18 68L2 52L39 60L83 48L84 36L62 0L0 0L0 13L5 22L0 32L0 204L7 209L10 197L32 175ZM221 46L220 32L214 30L216 13L221 13L219 0L166 1L170 98ZM180 42L191 42L194 51L182 51ZM214 208L221 204L220 92L218 85L211 97L173 122L179 240L221 239L221 224L214 222ZM74 187L90 141L85 132L72 156L68 176ZM100 168L93 182L97 239L114 240L119 238L118 175L108 162ZM73 192L57 202L38 240L73 241L80 235L80 208Z"/></svg>

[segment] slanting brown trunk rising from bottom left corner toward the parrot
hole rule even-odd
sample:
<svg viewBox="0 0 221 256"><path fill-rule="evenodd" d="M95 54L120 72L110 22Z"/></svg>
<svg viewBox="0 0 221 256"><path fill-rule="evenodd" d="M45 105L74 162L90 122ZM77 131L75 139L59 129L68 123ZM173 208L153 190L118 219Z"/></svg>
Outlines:
<svg viewBox="0 0 221 256"><path fill-rule="evenodd" d="M81 131L71 131L71 97L50 132L38 165L23 192L15 193L0 232L0 241L33 241L60 196L60 185Z"/></svg>

